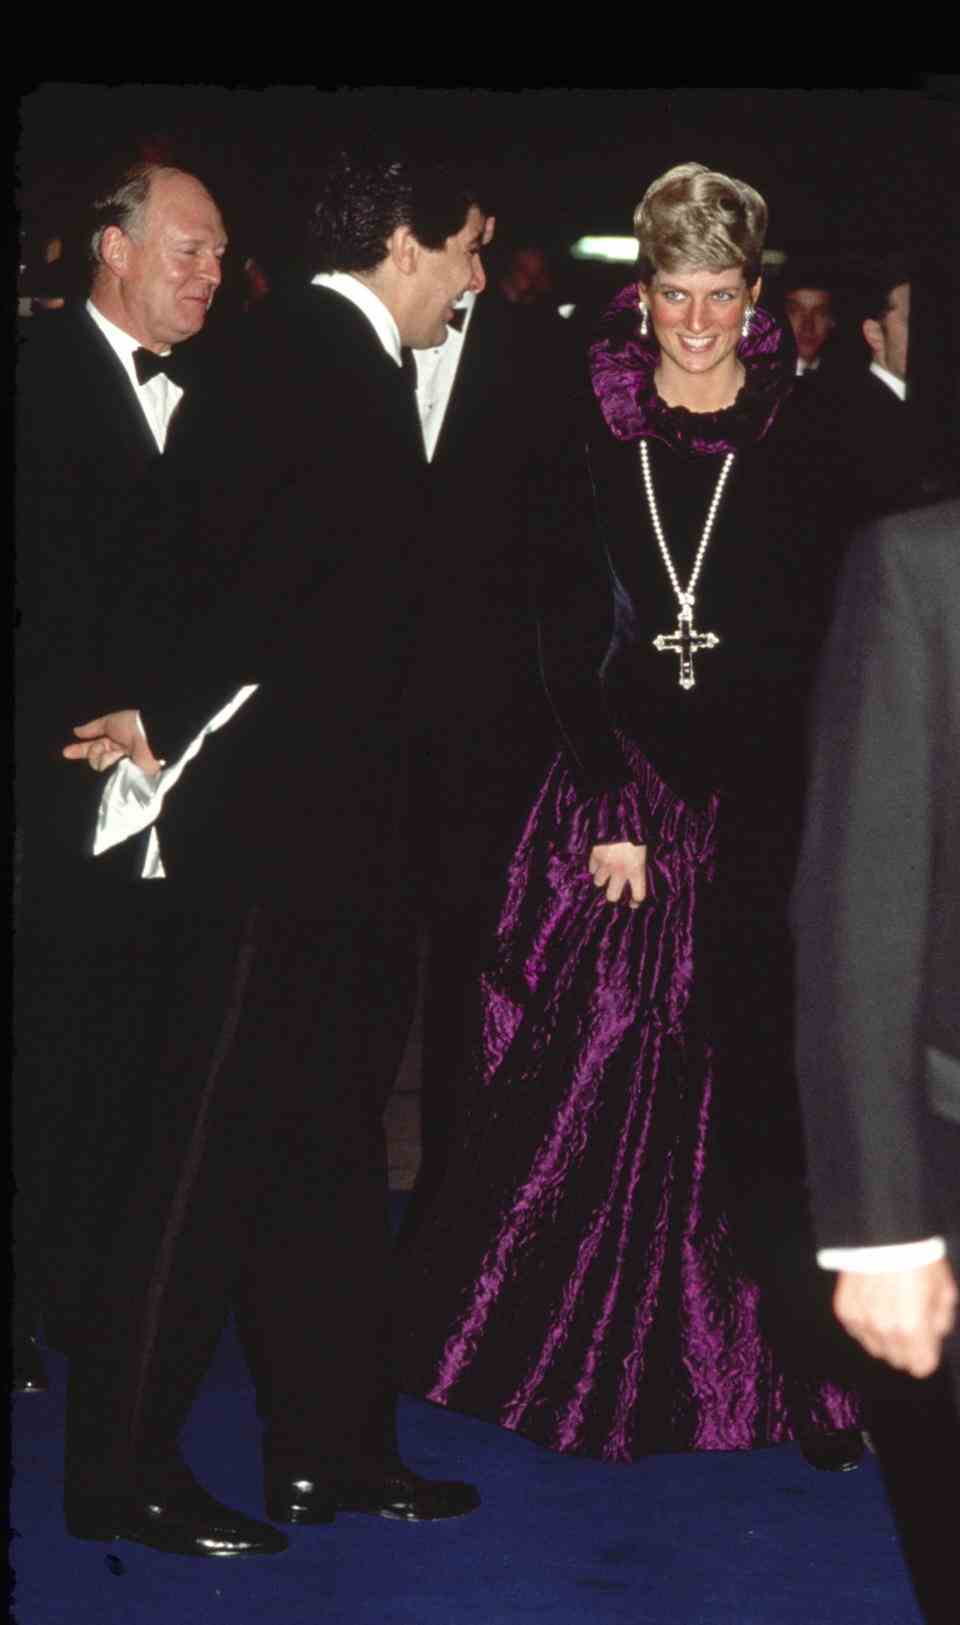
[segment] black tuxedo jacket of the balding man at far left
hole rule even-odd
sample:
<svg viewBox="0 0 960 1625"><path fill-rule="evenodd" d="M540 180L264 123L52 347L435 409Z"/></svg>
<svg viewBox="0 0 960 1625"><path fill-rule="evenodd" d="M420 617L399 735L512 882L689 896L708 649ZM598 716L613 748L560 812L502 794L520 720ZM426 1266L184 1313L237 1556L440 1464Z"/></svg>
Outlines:
<svg viewBox="0 0 960 1625"><path fill-rule="evenodd" d="M190 348L190 346L185 346ZM29 325L16 367L16 801L24 886L63 902L102 782L65 764L75 723L110 702L106 650L140 600L141 515L190 460L190 380L161 457L122 364L84 307ZM133 871L141 843L104 868Z"/></svg>

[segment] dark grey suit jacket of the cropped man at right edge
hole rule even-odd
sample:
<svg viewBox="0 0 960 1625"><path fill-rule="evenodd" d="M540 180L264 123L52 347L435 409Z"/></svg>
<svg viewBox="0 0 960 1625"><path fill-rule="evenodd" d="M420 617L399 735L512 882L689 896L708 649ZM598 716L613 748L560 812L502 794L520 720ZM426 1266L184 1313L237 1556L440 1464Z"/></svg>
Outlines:
<svg viewBox="0 0 960 1625"><path fill-rule="evenodd" d="M960 1233L960 504L853 549L794 897L820 1246Z"/></svg>

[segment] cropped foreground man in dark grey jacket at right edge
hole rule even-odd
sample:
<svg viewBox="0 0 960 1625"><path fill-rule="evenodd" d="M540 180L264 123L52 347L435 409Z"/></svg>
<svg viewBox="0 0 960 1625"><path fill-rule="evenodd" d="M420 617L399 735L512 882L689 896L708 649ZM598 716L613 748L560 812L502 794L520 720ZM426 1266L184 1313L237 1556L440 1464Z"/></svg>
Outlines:
<svg viewBox="0 0 960 1625"><path fill-rule="evenodd" d="M814 1224L931 1620L960 1446L960 502L877 523L825 650L794 915ZM915 1381L919 1378L921 1381ZM950 1378L954 1394L950 1394Z"/></svg>

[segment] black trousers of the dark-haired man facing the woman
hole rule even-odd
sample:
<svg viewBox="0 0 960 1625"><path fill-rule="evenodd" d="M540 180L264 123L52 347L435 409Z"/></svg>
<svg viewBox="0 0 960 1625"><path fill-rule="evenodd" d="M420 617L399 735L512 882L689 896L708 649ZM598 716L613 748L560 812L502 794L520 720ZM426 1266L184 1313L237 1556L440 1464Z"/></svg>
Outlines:
<svg viewBox="0 0 960 1625"><path fill-rule="evenodd" d="M71 1362L67 1485L158 1488L231 1306L268 1469L393 1451L382 1113L416 978L404 910L184 926L143 1165Z"/></svg>

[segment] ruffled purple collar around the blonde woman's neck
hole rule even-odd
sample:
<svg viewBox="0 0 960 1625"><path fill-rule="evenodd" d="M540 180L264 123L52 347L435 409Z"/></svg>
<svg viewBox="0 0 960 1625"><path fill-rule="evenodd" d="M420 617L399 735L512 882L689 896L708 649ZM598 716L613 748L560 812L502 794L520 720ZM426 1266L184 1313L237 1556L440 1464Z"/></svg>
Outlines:
<svg viewBox="0 0 960 1625"><path fill-rule="evenodd" d="M794 372L783 328L773 317L755 310L750 333L737 346L746 384L733 406L694 413L668 406L656 393L653 374L659 344L653 335L640 336L638 306L637 283L629 283L604 312L599 338L590 346L593 392L617 440L650 436L676 452L705 457L739 452L762 440L789 395Z"/></svg>

